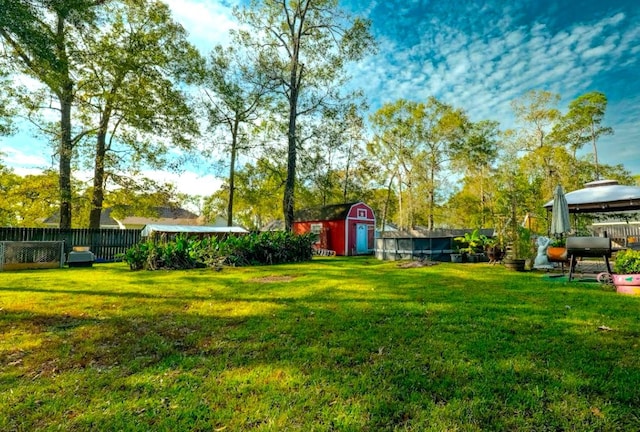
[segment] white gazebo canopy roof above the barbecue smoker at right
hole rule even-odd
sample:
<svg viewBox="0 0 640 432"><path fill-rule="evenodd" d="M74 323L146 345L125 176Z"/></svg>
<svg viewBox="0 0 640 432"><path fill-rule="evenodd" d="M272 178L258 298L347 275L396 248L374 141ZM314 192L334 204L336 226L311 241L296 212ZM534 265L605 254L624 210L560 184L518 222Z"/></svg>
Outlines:
<svg viewBox="0 0 640 432"><path fill-rule="evenodd" d="M619 185L615 180L599 180L565 194L570 213L602 213L640 210L640 187ZM544 207L551 210L553 200Z"/></svg>

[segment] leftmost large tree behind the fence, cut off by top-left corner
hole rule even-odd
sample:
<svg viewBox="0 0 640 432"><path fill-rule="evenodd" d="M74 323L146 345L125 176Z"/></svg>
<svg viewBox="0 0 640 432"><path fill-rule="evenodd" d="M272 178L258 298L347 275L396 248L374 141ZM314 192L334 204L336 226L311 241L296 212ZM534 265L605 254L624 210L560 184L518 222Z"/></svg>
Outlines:
<svg viewBox="0 0 640 432"><path fill-rule="evenodd" d="M71 115L75 100L74 75L82 50L78 34L94 30L96 9L105 0L0 0L0 38L26 73L55 96L60 111L59 158L60 227L71 227L71 160L75 144Z"/></svg>

